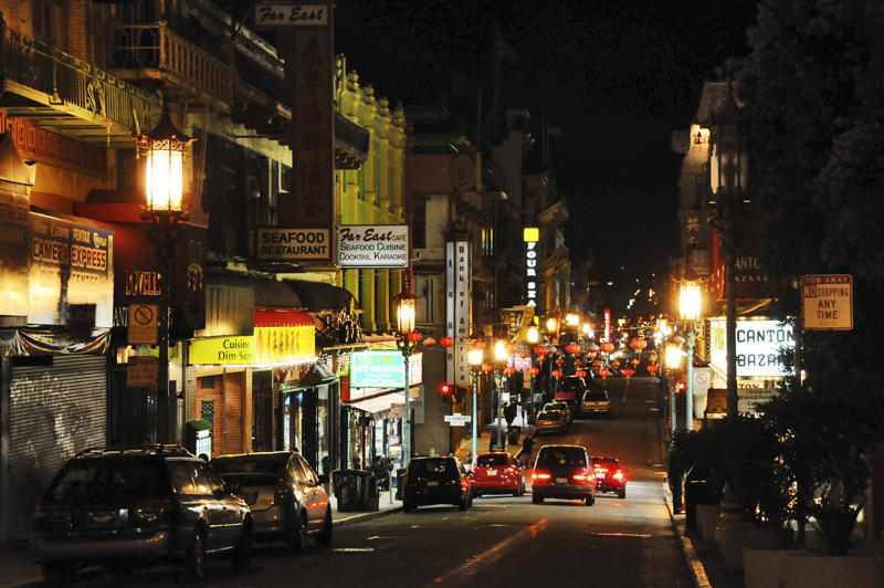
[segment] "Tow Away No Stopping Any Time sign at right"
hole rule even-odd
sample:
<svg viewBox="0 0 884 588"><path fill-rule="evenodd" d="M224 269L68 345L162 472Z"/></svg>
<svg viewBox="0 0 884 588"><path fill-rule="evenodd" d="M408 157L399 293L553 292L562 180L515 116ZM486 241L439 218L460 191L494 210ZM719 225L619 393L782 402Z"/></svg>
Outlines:
<svg viewBox="0 0 884 588"><path fill-rule="evenodd" d="M853 276L802 275L801 311L804 330L851 330Z"/></svg>

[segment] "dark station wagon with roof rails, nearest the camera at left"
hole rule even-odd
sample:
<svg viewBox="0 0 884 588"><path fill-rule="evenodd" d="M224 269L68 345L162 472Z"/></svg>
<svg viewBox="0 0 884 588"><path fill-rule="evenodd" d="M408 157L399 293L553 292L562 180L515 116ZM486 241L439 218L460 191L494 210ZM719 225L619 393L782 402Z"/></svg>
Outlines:
<svg viewBox="0 0 884 588"><path fill-rule="evenodd" d="M249 564L249 506L179 445L94 449L69 460L34 514L31 554L48 578L87 565L183 563L202 578L207 555Z"/></svg>

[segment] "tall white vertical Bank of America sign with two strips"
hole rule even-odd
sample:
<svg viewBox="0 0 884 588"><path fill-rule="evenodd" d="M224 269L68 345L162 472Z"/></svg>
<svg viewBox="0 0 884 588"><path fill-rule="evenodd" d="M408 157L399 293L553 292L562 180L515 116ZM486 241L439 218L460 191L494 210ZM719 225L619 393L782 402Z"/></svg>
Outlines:
<svg viewBox="0 0 884 588"><path fill-rule="evenodd" d="M466 354L472 332L470 271L470 242L453 241L445 245L445 330L455 344L448 349L448 381L470 385L470 365Z"/></svg>

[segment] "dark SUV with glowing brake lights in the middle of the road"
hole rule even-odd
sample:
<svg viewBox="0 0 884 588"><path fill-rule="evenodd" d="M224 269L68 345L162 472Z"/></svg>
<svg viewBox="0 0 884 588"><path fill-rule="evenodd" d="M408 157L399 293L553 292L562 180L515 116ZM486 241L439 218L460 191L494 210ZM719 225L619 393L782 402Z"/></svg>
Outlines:
<svg viewBox="0 0 884 588"><path fill-rule="evenodd" d="M596 475L587 450L580 445L544 445L532 472L532 502L545 498L596 503Z"/></svg>

